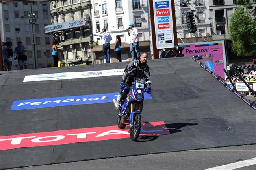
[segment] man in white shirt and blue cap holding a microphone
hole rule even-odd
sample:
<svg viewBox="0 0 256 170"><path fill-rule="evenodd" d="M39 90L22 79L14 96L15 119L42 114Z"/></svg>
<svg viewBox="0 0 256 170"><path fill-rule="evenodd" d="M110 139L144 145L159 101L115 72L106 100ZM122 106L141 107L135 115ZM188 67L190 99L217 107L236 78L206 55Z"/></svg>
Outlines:
<svg viewBox="0 0 256 170"><path fill-rule="evenodd" d="M138 30L134 27L134 23L130 23L130 27L126 29L128 35L131 38L130 41L130 51L132 55L132 60L138 60L138 57L141 56L139 53L139 33Z"/></svg>

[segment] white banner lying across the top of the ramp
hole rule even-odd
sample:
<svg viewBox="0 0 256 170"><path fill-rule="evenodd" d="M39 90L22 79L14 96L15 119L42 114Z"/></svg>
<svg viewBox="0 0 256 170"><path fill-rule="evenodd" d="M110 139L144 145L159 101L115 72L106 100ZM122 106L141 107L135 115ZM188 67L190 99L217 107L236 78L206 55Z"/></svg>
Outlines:
<svg viewBox="0 0 256 170"><path fill-rule="evenodd" d="M29 81L46 81L46 80L63 80L75 78L104 77L122 75L124 69L99 70L99 71L83 71L83 72L61 72L53 74L39 74L25 76L23 82Z"/></svg>

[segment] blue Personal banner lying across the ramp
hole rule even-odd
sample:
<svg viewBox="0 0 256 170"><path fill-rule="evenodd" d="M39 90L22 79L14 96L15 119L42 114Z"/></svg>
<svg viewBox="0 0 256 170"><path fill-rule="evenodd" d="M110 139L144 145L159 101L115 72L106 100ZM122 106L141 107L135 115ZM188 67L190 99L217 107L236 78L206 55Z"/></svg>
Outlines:
<svg viewBox="0 0 256 170"><path fill-rule="evenodd" d="M28 99L13 101L11 110L36 109L56 106L87 105L95 103L109 103L117 98L119 92L106 94L91 94L82 96L66 96L56 98ZM144 99L152 99L150 94L144 93Z"/></svg>

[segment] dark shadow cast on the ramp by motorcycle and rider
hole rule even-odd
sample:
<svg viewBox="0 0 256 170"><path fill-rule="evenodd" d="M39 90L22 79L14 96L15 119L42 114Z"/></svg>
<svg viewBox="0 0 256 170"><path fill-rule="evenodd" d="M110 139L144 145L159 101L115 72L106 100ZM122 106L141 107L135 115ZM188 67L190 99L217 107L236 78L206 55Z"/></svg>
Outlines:
<svg viewBox="0 0 256 170"><path fill-rule="evenodd" d="M141 126L141 136L137 139L138 142L154 141L159 136L182 132L183 127L198 125L198 123L161 123L152 125L149 122L144 122Z"/></svg>

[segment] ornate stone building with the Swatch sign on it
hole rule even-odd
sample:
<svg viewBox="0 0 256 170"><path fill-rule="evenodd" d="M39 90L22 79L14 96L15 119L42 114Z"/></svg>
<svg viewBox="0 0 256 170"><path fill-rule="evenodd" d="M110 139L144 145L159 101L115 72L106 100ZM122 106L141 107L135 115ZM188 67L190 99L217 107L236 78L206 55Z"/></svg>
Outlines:
<svg viewBox="0 0 256 170"><path fill-rule="evenodd" d="M45 33L58 40L60 60L69 65L93 64L90 0L57 0L49 3L52 24L45 27Z"/></svg>

